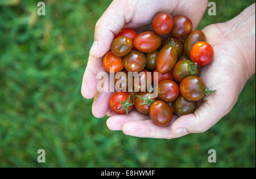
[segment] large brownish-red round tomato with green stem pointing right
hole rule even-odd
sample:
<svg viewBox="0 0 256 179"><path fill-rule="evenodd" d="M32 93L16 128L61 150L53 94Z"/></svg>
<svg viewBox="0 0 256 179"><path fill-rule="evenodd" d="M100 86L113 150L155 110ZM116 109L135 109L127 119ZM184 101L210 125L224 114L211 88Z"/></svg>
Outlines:
<svg viewBox="0 0 256 179"><path fill-rule="evenodd" d="M205 93L205 82L199 76L188 76L180 83L180 93L189 101L203 99Z"/></svg>

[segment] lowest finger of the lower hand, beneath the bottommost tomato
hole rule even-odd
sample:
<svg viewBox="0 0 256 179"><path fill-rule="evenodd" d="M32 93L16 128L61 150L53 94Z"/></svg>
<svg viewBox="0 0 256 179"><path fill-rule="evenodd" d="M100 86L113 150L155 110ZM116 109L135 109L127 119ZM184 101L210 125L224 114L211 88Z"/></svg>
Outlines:
<svg viewBox="0 0 256 179"><path fill-rule="evenodd" d="M172 122L175 121L177 116L174 116ZM171 125L168 126L158 126L152 120L144 120L144 121L131 121L125 123L123 125L123 133L126 135L131 135L134 137L141 138L164 138L164 139L172 139L182 137L186 134L174 135L171 131Z"/></svg>

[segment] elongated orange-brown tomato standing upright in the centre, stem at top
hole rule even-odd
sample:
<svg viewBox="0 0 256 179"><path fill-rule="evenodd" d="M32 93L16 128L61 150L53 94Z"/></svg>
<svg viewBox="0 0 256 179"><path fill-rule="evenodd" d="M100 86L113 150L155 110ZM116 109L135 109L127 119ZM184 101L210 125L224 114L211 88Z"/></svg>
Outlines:
<svg viewBox="0 0 256 179"><path fill-rule="evenodd" d="M177 50L172 45L164 46L156 59L156 67L160 73L167 73L177 62Z"/></svg>

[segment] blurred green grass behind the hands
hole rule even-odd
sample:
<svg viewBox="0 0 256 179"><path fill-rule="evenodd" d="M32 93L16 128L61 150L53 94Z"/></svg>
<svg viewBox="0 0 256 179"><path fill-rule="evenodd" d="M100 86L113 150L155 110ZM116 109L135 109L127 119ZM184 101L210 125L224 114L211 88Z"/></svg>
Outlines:
<svg viewBox="0 0 256 179"><path fill-rule="evenodd" d="M215 1L225 22L255 1ZM127 137L92 116L80 95L93 29L110 1L0 2L0 167L255 167L255 76L236 106L204 134ZM46 163L37 151L46 150ZM209 164L208 150L217 151Z"/></svg>

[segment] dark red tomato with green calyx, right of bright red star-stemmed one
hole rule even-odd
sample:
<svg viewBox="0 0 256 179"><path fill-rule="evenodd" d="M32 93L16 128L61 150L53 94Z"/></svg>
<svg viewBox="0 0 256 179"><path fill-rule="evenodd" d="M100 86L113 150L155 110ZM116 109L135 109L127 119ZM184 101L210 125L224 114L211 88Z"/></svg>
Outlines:
<svg viewBox="0 0 256 179"><path fill-rule="evenodd" d="M138 96L147 98L150 94L146 91L146 92L139 92ZM150 106L148 106L147 104L142 104L143 103L143 99L141 99L140 97L136 96L134 99L134 106L135 108L138 110L138 112L142 113L142 114L149 114L149 108ZM155 98L151 99L155 100Z"/></svg>

